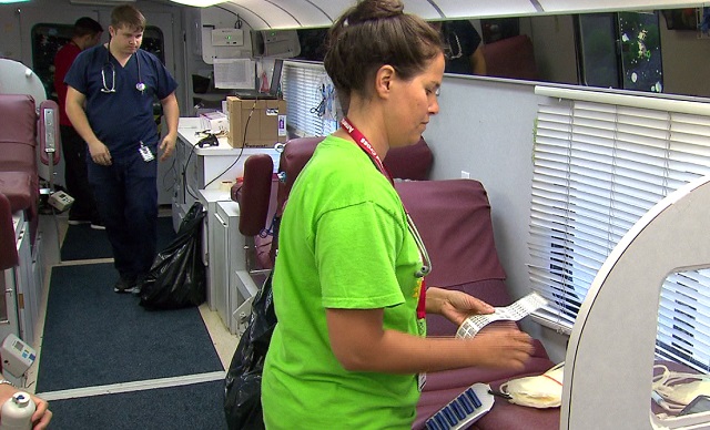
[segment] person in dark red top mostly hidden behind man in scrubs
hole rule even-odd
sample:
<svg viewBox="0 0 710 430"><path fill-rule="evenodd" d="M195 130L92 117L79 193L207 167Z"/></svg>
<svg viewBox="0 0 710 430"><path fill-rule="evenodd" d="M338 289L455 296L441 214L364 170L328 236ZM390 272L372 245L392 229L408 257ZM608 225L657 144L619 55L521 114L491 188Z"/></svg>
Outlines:
<svg viewBox="0 0 710 430"><path fill-rule="evenodd" d="M69 224L91 224L92 228L103 229L99 217L97 203L87 177L87 143L77 133L69 121L65 111L67 84L64 76L79 53L95 47L101 40L103 28L99 22L82 17L74 22L74 29L69 43L63 45L54 55L54 90L59 104L59 125L64 154L64 182L67 192L74 197L69 209Z"/></svg>

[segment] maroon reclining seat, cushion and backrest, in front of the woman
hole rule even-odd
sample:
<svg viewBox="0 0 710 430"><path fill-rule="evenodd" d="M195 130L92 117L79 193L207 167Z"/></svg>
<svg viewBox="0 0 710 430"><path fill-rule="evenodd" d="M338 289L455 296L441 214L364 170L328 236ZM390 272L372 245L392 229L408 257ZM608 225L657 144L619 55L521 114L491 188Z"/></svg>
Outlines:
<svg viewBox="0 0 710 430"><path fill-rule="evenodd" d="M496 252L490 205L483 185L471 180L404 182L397 192L417 225L432 260L428 286L464 290L494 306L513 299L505 284L506 274ZM427 316L428 336L454 336L457 327L443 317ZM540 375L555 366L542 344L521 371L465 368L427 375L427 383L417 405L414 429L456 396L476 382L500 383L523 376ZM490 412L476 428L558 429L559 409L536 410L496 398Z"/></svg>

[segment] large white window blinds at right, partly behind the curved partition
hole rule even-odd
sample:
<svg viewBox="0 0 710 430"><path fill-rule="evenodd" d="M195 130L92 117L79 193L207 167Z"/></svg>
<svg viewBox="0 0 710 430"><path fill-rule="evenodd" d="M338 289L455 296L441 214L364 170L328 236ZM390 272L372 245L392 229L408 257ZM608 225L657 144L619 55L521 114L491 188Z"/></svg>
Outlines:
<svg viewBox="0 0 710 430"><path fill-rule="evenodd" d="M536 319L569 332L621 237L666 195L710 174L710 116L696 102L559 95L538 108L528 273L550 303ZM708 316L710 272L669 276L657 354L709 370Z"/></svg>

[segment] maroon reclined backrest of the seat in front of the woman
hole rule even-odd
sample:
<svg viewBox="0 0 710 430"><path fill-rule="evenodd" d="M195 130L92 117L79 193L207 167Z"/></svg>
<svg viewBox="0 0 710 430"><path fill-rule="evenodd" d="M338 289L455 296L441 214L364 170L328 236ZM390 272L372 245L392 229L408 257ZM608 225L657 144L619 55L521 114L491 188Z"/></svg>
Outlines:
<svg viewBox="0 0 710 430"><path fill-rule="evenodd" d="M428 285L450 287L505 279L494 240L490 204L478 181L396 183L432 259Z"/></svg>

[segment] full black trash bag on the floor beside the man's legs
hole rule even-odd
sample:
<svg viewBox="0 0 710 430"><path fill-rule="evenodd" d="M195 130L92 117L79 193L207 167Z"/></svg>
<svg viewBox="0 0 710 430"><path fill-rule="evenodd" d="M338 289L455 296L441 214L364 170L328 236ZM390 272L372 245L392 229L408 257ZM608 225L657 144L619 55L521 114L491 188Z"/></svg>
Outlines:
<svg viewBox="0 0 710 430"><path fill-rule="evenodd" d="M202 262L202 228L205 212L195 202L178 229L178 236L158 254L140 284L141 306L178 309L200 306L206 299L206 275Z"/></svg>

